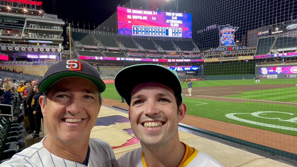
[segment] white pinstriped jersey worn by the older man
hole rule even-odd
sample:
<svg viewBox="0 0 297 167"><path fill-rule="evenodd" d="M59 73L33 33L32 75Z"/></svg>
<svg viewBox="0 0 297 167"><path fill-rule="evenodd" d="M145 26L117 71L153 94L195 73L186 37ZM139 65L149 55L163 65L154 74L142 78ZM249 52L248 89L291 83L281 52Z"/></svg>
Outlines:
<svg viewBox="0 0 297 167"><path fill-rule="evenodd" d="M80 163L66 160L50 153L43 146L43 140L15 154L10 160L1 163L0 166L14 167L85 167ZM116 157L110 145L100 139L89 140L88 167L111 167Z"/></svg>

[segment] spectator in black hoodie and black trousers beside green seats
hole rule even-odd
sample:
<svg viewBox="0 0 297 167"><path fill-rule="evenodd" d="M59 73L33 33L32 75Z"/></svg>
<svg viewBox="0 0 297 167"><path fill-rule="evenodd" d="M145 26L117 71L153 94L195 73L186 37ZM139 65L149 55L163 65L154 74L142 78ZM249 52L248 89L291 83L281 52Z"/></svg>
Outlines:
<svg viewBox="0 0 297 167"><path fill-rule="evenodd" d="M33 110L33 115L34 115L35 130L31 135L29 135L29 136L32 136L30 140L36 140L40 137L39 132L40 132L42 113L41 113L39 97L42 95L42 92L39 91L38 86L39 85L37 83L36 85L34 85L34 88L33 88L33 92L35 92L35 96L32 99L31 108Z"/></svg>

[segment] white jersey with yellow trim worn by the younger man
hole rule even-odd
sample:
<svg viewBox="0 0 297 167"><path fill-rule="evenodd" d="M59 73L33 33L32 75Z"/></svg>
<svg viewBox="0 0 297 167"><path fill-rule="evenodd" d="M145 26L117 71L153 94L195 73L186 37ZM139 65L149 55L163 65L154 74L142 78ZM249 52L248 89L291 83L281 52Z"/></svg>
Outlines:
<svg viewBox="0 0 297 167"><path fill-rule="evenodd" d="M135 149L133 151L127 152L122 155L113 164L113 167L122 166L133 166L133 167L146 167L144 161L144 154L142 148ZM184 167L200 167L200 166L210 166L219 167L222 166L213 157L195 149L194 153L180 166Z"/></svg>

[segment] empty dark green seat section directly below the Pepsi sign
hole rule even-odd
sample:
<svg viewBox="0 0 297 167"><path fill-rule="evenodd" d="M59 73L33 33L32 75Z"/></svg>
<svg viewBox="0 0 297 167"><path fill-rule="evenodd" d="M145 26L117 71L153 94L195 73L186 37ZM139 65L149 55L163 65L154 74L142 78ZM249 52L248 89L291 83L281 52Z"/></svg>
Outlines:
<svg viewBox="0 0 297 167"><path fill-rule="evenodd" d="M270 54L270 48L274 42L274 37L260 38L257 45L257 51L255 55Z"/></svg>

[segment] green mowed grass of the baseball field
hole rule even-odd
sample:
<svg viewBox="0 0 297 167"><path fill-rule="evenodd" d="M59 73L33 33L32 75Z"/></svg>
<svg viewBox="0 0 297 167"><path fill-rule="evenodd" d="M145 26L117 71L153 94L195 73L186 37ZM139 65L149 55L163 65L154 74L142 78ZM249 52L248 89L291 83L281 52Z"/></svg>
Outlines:
<svg viewBox="0 0 297 167"><path fill-rule="evenodd" d="M297 84L297 79L261 79L260 83L255 83L254 80L213 80L193 81L193 83L195 84L194 87L232 85L253 86L255 84ZM182 87L187 88L187 84L182 83ZM297 86L240 93L242 94L226 97L297 103ZM114 84L107 84L106 90L102 93L102 96L114 100L121 100L121 97L116 92ZM290 103L234 103L195 99L186 96L184 96L183 101L187 104L187 114L190 115L297 136L297 106ZM263 111L269 113L262 113L255 116L255 112ZM231 116L233 119L231 119L231 113L243 114L233 114L233 117ZM254 113L254 115L252 115L252 113Z"/></svg>

